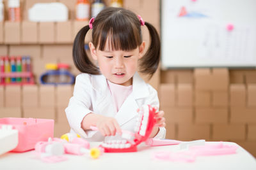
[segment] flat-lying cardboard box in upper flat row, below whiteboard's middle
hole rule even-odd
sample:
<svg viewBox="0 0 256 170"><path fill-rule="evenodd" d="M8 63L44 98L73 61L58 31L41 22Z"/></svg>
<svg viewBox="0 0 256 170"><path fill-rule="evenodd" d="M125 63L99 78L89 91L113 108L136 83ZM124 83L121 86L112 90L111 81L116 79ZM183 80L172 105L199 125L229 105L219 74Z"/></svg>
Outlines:
<svg viewBox="0 0 256 170"><path fill-rule="evenodd" d="M228 108L196 108L195 122L196 124L227 124Z"/></svg>

